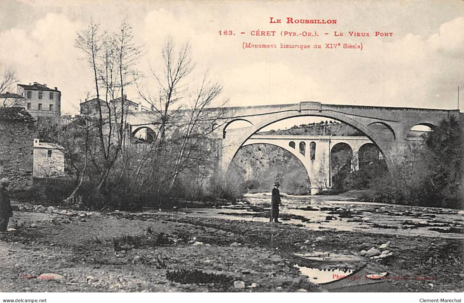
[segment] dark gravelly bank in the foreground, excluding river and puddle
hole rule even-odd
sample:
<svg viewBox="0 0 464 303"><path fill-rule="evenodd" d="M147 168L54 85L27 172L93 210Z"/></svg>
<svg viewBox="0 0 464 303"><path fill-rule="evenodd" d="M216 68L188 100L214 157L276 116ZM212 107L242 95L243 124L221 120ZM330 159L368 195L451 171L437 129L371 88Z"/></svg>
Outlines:
<svg viewBox="0 0 464 303"><path fill-rule="evenodd" d="M354 291L463 290L459 239L308 231L179 213L15 212L17 225L27 223L0 235L0 291L327 291L295 264L322 270L367 265L390 274L385 283L349 288ZM386 241L394 258L359 256ZM314 251L333 257L295 255ZM64 278L34 278L43 273Z"/></svg>

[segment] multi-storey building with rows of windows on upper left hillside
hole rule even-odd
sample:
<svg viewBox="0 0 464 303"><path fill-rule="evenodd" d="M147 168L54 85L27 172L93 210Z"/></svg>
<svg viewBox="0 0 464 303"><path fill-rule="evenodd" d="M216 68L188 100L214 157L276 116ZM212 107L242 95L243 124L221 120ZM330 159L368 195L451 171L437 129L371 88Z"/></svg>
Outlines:
<svg viewBox="0 0 464 303"><path fill-rule="evenodd" d="M47 84L18 84L17 95L23 97L20 105L34 117L53 117L61 115L61 91Z"/></svg>

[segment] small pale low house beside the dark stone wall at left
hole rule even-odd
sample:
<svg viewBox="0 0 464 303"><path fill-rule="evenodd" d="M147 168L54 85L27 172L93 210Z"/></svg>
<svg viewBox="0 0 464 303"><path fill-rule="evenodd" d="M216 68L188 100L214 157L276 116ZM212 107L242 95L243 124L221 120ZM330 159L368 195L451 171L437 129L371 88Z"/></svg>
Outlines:
<svg viewBox="0 0 464 303"><path fill-rule="evenodd" d="M50 178L64 175L63 147L34 139L34 178Z"/></svg>

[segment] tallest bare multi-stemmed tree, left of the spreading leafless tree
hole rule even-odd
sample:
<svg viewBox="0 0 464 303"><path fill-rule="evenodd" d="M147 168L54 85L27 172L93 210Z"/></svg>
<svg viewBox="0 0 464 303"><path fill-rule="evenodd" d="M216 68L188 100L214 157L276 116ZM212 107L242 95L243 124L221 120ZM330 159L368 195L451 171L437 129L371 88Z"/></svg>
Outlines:
<svg viewBox="0 0 464 303"><path fill-rule="evenodd" d="M96 188L101 192L121 155L127 116L124 89L133 83L135 66L143 54L141 46L133 42L132 29L126 20L114 34L99 35L98 31L99 25L91 21L87 29L77 33L75 46L86 55L94 75L99 148L97 153L90 153L90 158L99 174ZM104 101L100 98L102 87ZM116 95L120 98L115 99Z"/></svg>

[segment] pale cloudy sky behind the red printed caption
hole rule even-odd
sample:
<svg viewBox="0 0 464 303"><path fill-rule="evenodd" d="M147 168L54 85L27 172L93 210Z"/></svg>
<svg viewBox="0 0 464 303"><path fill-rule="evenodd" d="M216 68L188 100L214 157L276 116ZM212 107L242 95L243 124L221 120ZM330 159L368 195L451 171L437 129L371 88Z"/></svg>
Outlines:
<svg viewBox="0 0 464 303"><path fill-rule="evenodd" d="M92 74L73 45L76 32L91 17L110 32L127 17L136 42L146 51L139 66L142 71L160 64L161 45L168 35L177 45L189 41L196 73L209 70L210 77L223 84L221 97L230 105L312 100L456 109L458 85L464 91L464 1L460 0L0 0L0 64L13 66L20 83L57 86L63 112L76 113L80 100L92 91ZM270 17L283 22L286 17L336 19L337 23L270 24ZM220 36L220 30L236 35ZM256 30L276 31L278 36L251 36ZM280 31L316 31L320 36L280 37ZM334 31L344 36L334 37ZM370 32L371 37L350 37L349 31ZM393 36L372 37L375 31L393 32ZM243 42L311 48L244 50ZM362 51L324 49L325 43L361 42ZM314 44L322 49L312 48ZM128 97L136 100L135 90L129 90Z"/></svg>

